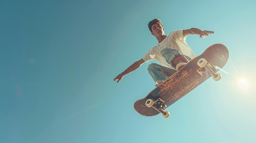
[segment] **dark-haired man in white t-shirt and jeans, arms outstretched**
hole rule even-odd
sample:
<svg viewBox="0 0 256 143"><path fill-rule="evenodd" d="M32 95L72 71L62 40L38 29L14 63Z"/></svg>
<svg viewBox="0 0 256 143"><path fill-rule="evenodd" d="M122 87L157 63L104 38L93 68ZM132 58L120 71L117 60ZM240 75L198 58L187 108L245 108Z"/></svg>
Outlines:
<svg viewBox="0 0 256 143"><path fill-rule="evenodd" d="M162 22L155 18L148 23L148 28L154 35L158 44L151 48L146 55L128 67L123 73L117 75L114 81L119 82L124 75L136 70L144 62L156 59L162 65L152 63L148 66L148 72L153 77L156 87L182 68L187 62L195 57L193 51L186 43L187 35L200 35L201 38L214 33L213 31L202 31L198 28L172 31L165 35Z"/></svg>

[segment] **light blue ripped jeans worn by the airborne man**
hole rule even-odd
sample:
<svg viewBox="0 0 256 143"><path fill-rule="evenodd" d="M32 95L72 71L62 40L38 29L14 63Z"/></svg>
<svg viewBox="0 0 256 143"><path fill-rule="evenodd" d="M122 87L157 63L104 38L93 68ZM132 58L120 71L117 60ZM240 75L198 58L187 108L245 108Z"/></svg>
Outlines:
<svg viewBox="0 0 256 143"><path fill-rule="evenodd" d="M161 54L166 59L166 62L170 64L172 67L173 67L173 59L177 56L183 55L182 53L180 53L180 51L172 48L164 48L161 51ZM188 61L191 60L190 57L186 55L183 55L183 56L186 57ZM176 67L173 67L173 68L176 68ZM155 82L159 80L164 81L168 79L168 77L171 77L171 75L173 75L175 72L176 70L174 69L167 68L165 66L161 66L156 63L152 63L148 66L148 73L154 79Z"/></svg>

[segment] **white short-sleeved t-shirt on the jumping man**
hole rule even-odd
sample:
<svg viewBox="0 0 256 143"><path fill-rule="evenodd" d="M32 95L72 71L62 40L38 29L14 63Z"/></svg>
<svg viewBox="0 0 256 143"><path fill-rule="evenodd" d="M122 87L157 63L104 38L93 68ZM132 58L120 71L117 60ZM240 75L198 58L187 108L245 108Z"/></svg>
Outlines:
<svg viewBox="0 0 256 143"><path fill-rule="evenodd" d="M183 36L183 30L172 31L167 35L161 43L151 48L148 53L143 57L145 62L156 59L163 66L172 68L170 64L166 62L166 59L161 55L161 51L164 48L173 48L180 51L182 54L189 56L191 59L195 57L192 49L186 43L186 36Z"/></svg>

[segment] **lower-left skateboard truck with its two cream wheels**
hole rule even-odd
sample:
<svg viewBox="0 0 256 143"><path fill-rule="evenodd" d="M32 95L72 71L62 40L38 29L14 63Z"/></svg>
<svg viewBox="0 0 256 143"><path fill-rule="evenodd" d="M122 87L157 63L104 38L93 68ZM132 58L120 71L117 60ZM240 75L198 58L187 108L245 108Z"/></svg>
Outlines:
<svg viewBox="0 0 256 143"><path fill-rule="evenodd" d="M168 118L170 116L170 112L168 112L167 110L163 110L166 108L166 105L163 103L164 103L164 100L159 98L156 101L153 101L152 99L148 99L145 104L148 108L152 107L158 112L162 113L164 118Z"/></svg>

